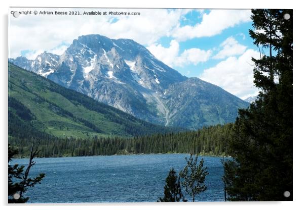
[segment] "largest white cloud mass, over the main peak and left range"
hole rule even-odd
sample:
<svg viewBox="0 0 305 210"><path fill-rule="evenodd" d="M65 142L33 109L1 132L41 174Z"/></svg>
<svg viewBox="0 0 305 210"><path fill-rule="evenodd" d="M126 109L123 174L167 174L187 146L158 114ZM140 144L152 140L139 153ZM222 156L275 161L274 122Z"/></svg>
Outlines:
<svg viewBox="0 0 305 210"><path fill-rule="evenodd" d="M18 9L15 9L18 11ZM20 11L23 9L19 9ZM43 8L44 11L54 11ZM95 9L73 9L90 12ZM21 55L22 50L51 51L61 44L72 43L80 35L101 34L109 38L130 38L140 44L150 45L162 36L170 36L180 18L190 10L165 9L100 9L99 11L140 12L140 16L108 15L33 15L10 16L10 58ZM40 11L38 9L37 11ZM60 9L69 11L69 9ZM34 53L32 53L34 54ZM33 55L32 55L33 56Z"/></svg>

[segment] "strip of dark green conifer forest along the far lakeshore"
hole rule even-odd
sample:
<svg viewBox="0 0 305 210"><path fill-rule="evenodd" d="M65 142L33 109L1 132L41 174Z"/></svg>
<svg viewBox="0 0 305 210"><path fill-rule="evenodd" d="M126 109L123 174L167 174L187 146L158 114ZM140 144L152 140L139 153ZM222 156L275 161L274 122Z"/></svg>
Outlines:
<svg viewBox="0 0 305 210"><path fill-rule="evenodd" d="M138 153L193 153L205 155L226 155L225 144L233 132L233 124L210 126L198 131L154 134L149 136L41 138L40 157L88 156ZM12 145L18 147L19 156L29 155L30 139L12 138Z"/></svg>

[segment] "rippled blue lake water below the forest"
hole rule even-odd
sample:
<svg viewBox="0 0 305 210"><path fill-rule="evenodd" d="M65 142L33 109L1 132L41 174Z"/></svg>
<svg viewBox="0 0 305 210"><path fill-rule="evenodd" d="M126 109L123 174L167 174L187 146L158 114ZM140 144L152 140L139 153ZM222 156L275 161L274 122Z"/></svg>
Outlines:
<svg viewBox="0 0 305 210"><path fill-rule="evenodd" d="M28 202L156 202L171 169L179 173L188 154L141 154L37 158L30 175L45 173L42 184L24 194ZM221 158L200 156L208 167L207 190L196 201L223 201ZM26 165L28 159L11 164ZM190 201L190 199L188 199Z"/></svg>

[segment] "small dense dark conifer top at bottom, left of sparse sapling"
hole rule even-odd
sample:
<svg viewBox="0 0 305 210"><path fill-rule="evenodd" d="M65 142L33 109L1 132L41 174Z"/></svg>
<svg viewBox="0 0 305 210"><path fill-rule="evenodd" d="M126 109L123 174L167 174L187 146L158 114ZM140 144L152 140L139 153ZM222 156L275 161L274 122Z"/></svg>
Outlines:
<svg viewBox="0 0 305 210"><path fill-rule="evenodd" d="M180 202L186 201L181 192L180 181L176 176L174 168L172 168L165 180L164 197L159 198L158 202Z"/></svg>

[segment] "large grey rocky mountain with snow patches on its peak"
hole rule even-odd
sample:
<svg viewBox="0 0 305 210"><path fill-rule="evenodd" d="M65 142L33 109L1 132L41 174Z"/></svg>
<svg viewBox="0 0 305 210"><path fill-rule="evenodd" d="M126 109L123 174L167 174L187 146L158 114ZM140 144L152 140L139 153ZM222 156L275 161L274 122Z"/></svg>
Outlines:
<svg viewBox="0 0 305 210"><path fill-rule="evenodd" d="M61 56L44 52L32 61L10 61L160 125L198 129L234 122L238 109L249 105L220 87L182 76L131 39L85 35Z"/></svg>

